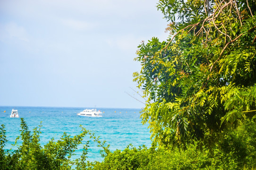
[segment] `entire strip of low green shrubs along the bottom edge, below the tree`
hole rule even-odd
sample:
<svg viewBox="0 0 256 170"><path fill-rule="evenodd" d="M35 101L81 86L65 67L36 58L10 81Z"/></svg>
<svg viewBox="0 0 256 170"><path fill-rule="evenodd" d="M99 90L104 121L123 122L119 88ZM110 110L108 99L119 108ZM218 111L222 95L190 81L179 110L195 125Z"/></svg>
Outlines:
<svg viewBox="0 0 256 170"><path fill-rule="evenodd" d="M254 170L256 169L256 124L247 121L236 131L228 132L213 153L203 148L203 152L190 146L188 150L165 150L145 146L135 148L131 144L123 151L110 152L98 137L82 128L81 134L70 137L66 133L60 140L53 139L41 146L40 128L34 128L33 135L28 131L26 122L21 119L22 144L17 150L4 150L7 142L4 126L0 127L0 170ZM89 142L83 142L90 135L105 154L104 161L87 161ZM77 144L84 144L81 158L72 160ZM100 155L99 155L100 156Z"/></svg>

